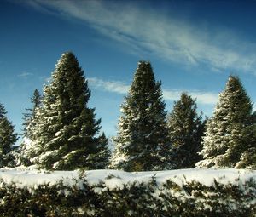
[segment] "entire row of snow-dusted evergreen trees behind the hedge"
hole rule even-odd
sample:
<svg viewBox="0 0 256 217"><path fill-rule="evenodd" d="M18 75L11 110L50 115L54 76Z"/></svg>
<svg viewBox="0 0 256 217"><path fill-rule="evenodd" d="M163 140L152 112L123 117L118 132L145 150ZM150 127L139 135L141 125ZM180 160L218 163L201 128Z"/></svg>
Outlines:
<svg viewBox="0 0 256 217"><path fill-rule="evenodd" d="M116 168L126 171L173 168L256 168L253 104L241 81L230 76L209 119L183 93L166 113L161 83L149 62L140 61L121 105L115 150L100 134L101 120L88 107L90 89L74 54L62 54L43 96L36 89L17 134L0 104L0 166L56 170Z"/></svg>

